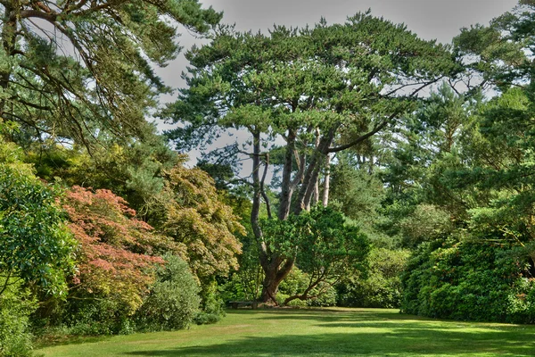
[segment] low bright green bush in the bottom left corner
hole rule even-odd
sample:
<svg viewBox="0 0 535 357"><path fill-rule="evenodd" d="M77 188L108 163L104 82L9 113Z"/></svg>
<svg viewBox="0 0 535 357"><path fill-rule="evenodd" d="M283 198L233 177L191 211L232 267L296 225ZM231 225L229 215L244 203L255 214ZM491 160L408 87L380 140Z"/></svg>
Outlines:
<svg viewBox="0 0 535 357"><path fill-rule="evenodd" d="M0 289L4 287L4 282L1 283ZM31 354L29 315L36 309L35 299L28 291L21 288L20 284L7 286L0 295L0 356Z"/></svg>

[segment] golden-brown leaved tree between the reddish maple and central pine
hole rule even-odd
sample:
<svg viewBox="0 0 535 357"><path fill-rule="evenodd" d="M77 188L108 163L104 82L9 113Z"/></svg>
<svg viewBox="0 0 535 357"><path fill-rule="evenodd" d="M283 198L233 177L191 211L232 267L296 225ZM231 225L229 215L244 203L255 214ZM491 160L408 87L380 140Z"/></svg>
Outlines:
<svg viewBox="0 0 535 357"><path fill-rule="evenodd" d="M244 228L232 207L221 202L214 180L183 165L166 171L165 179L157 204L163 212L161 233L183 247L178 253L202 282L236 270L241 244L235 235Z"/></svg>

